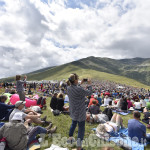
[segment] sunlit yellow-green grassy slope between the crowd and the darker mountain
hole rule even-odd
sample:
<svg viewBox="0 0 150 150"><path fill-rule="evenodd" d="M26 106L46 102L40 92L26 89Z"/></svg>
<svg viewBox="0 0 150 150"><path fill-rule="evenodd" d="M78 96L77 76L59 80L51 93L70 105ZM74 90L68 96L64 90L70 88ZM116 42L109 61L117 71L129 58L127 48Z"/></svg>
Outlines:
<svg viewBox="0 0 150 150"><path fill-rule="evenodd" d="M70 73L76 72L80 79L82 78L92 78L98 80L109 80L120 84L126 84L134 87L143 87L143 88L150 88L147 85L144 85L138 81L133 79L129 79L123 76L113 75L105 72L99 72L92 69L81 69L77 66L69 65L64 67L62 70L55 72L53 75L44 78L45 80L60 80L60 79L67 79Z"/></svg>

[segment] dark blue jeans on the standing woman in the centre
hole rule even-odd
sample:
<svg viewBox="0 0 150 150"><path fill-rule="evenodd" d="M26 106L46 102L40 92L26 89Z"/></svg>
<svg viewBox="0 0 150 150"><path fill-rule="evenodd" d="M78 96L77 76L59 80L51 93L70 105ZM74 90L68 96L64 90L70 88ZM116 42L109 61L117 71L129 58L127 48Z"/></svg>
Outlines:
<svg viewBox="0 0 150 150"><path fill-rule="evenodd" d="M74 121L72 120L72 124L69 131L69 137L73 136L74 130L78 124L78 141L77 146L81 146L81 141L84 138L84 132L85 132L85 121Z"/></svg>

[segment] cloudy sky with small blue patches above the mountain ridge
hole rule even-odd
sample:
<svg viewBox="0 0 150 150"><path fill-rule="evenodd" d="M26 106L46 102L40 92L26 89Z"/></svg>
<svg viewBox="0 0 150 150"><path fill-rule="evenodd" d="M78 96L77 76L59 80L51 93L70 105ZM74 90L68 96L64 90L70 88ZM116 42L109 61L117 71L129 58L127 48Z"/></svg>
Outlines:
<svg viewBox="0 0 150 150"><path fill-rule="evenodd" d="M0 78L89 56L150 57L150 0L0 0Z"/></svg>

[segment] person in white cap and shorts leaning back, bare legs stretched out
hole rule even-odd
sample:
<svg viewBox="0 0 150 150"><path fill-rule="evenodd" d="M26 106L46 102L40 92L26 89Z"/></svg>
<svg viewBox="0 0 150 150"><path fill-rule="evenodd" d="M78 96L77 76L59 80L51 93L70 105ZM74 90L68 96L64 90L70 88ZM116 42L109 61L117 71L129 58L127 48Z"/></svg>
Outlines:
<svg viewBox="0 0 150 150"><path fill-rule="evenodd" d="M23 101L17 101L15 104L15 109L12 111L12 113L9 116L9 122L11 122L11 119L13 118L14 114L17 112L22 113L22 122L26 121L28 123L36 123L36 124L49 124L46 120L42 121L40 119L41 114L36 113L35 111L31 109L24 109L26 102Z"/></svg>

